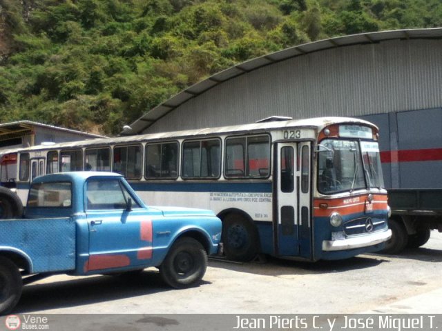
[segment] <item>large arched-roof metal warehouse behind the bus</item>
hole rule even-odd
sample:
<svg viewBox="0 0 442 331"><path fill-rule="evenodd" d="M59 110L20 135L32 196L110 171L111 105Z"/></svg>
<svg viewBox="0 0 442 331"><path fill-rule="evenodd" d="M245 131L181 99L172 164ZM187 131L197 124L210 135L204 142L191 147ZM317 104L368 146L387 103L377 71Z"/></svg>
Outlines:
<svg viewBox="0 0 442 331"><path fill-rule="evenodd" d="M441 64L442 28L306 43L214 74L122 133L252 123L271 115L362 117L381 129L387 187L441 187L441 176L410 176L442 166ZM428 152L429 162L414 160Z"/></svg>

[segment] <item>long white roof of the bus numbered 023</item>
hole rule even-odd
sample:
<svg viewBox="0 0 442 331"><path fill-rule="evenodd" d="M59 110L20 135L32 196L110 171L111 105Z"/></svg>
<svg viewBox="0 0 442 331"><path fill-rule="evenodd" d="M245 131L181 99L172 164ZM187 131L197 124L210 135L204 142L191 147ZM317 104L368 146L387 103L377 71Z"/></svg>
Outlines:
<svg viewBox="0 0 442 331"><path fill-rule="evenodd" d="M362 119L355 119L351 117L318 117L314 119L292 119L288 121L265 121L262 123L243 124L238 126L222 126L218 128L202 128L194 130L183 130L175 132L160 132L160 133L148 133L137 134L124 137L113 138L99 138L99 139L86 139L83 141L70 141L66 143L55 143L49 146L32 146L29 148L17 148L15 151L32 151L32 150L54 150L57 148L73 148L82 146L103 146L108 143L113 144L127 144L137 143L146 140L160 140L160 139L180 139L184 137L204 137L212 134L229 134L229 133L248 133L248 132L265 132L267 130L285 129L285 128L305 128L314 130L323 130L326 126L334 123L354 123L364 124L373 128L377 127L368 121Z"/></svg>

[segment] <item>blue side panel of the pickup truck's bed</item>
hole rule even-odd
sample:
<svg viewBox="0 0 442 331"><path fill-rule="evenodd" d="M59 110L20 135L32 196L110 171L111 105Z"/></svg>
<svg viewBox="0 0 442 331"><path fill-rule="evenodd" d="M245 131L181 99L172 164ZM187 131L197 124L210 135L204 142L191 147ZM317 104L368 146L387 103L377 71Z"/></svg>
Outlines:
<svg viewBox="0 0 442 331"><path fill-rule="evenodd" d="M70 217L2 220L0 243L3 252L21 251L30 273L75 269L75 221Z"/></svg>

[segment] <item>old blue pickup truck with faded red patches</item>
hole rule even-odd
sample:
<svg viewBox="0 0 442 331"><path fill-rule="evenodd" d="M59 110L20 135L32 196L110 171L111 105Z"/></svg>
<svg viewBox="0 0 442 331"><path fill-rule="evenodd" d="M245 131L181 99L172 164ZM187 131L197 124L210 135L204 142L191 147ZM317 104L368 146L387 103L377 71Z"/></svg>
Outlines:
<svg viewBox="0 0 442 331"><path fill-rule="evenodd" d="M23 218L0 221L0 313L15 307L23 285L59 273L155 266L173 288L198 285L221 227L210 210L144 205L119 174L37 177Z"/></svg>

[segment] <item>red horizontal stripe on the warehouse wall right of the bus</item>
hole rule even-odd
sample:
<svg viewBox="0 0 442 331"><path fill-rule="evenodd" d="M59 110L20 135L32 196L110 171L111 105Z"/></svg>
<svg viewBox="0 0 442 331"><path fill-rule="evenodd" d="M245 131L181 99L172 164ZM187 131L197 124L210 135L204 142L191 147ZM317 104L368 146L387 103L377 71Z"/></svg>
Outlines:
<svg viewBox="0 0 442 331"><path fill-rule="evenodd" d="M442 148L381 152L382 163L442 161Z"/></svg>

